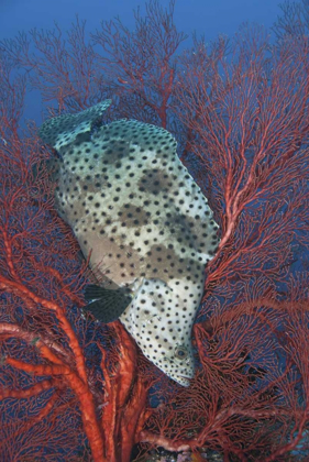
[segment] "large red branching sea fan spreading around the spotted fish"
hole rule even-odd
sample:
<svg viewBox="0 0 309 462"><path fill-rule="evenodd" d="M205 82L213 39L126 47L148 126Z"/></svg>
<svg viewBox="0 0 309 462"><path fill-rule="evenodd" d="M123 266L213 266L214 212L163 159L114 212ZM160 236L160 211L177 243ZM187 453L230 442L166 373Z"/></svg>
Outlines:
<svg viewBox="0 0 309 462"><path fill-rule="evenodd" d="M229 50L223 38L209 47L196 40L176 57L184 35L173 6L164 11L152 1L146 19L136 13L134 32L111 22L92 43L77 21L68 44L59 29L33 32L36 54L25 35L1 44L5 462L143 461L156 448L190 451L195 461L207 450L224 461L308 459L306 37L285 35L271 46L262 30L243 29ZM150 364L119 322L96 323L80 310L92 276L54 210L44 165L55 154L33 125L20 129L29 76L45 102L57 101L51 114L115 95L111 119L167 128L209 197L221 244L207 267L189 388Z"/></svg>

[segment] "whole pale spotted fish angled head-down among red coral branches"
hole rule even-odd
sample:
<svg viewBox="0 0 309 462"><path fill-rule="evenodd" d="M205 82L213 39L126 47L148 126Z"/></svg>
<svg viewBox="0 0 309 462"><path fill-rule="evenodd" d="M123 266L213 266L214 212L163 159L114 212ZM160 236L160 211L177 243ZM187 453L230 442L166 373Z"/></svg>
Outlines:
<svg viewBox="0 0 309 462"><path fill-rule="evenodd" d="M136 120L102 125L110 103L40 129L58 154L56 208L102 276L87 287L86 308L103 322L119 318L150 361L188 386L191 328L218 224L173 135Z"/></svg>

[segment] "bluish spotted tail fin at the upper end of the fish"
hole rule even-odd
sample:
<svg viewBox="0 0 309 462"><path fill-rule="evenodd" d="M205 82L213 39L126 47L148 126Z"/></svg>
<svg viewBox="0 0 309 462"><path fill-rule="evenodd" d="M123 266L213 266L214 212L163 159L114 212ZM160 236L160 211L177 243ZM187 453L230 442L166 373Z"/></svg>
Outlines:
<svg viewBox="0 0 309 462"><path fill-rule="evenodd" d="M111 99L107 99L76 114L63 114L48 119L38 130L38 136L44 143L58 151L62 146L71 143L78 134L90 132L111 102Z"/></svg>

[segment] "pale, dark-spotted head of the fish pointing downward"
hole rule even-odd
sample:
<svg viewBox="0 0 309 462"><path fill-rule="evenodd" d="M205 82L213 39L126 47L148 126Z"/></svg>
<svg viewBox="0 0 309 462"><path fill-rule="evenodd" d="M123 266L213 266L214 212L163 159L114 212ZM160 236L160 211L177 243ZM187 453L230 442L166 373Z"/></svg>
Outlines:
<svg viewBox="0 0 309 462"><path fill-rule="evenodd" d="M161 279L144 279L121 317L143 354L183 386L195 375L194 319L195 312Z"/></svg>

